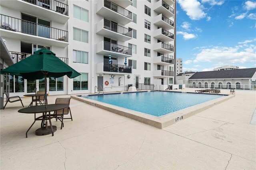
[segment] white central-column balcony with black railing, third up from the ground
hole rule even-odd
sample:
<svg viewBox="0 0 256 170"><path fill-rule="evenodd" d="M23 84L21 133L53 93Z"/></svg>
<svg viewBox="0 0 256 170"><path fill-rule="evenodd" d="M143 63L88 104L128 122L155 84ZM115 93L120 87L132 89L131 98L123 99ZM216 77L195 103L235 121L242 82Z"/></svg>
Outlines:
<svg viewBox="0 0 256 170"><path fill-rule="evenodd" d="M100 22L96 24L96 33L124 42L132 39L131 30L105 19L100 20Z"/></svg>

